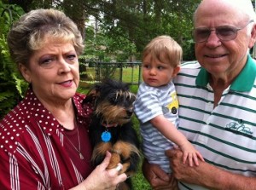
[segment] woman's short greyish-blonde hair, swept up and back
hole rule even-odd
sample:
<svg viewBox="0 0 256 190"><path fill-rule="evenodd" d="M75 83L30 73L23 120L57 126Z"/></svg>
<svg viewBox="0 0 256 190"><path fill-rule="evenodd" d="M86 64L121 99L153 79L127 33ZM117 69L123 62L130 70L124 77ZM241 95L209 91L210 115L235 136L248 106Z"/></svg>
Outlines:
<svg viewBox="0 0 256 190"><path fill-rule="evenodd" d="M55 9L36 9L22 15L9 32L9 51L15 63L28 66L32 53L44 46L45 37L58 43L73 43L78 55L84 50L81 33L66 14Z"/></svg>

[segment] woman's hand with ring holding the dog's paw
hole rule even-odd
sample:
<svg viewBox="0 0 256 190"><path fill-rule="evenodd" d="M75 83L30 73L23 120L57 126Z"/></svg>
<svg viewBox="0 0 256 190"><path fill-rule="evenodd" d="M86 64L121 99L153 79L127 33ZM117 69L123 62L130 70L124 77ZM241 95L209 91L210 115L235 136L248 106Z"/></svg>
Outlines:
<svg viewBox="0 0 256 190"><path fill-rule="evenodd" d="M72 188L83 189L83 190L114 190L117 185L125 181L127 176L125 173L119 175L119 169L123 166L119 164L117 168L107 170L109 161L111 158L111 153L106 154L106 158L103 160L102 164L98 165L95 170L93 170L79 186Z"/></svg>

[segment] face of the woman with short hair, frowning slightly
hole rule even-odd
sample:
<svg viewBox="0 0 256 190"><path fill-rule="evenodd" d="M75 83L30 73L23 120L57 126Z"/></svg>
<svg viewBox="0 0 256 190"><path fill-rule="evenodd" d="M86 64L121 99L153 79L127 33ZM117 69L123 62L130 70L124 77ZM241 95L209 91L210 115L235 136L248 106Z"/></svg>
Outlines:
<svg viewBox="0 0 256 190"><path fill-rule="evenodd" d="M20 71L40 101L67 101L79 86L78 55L72 43L45 40L44 48L30 57L29 67L20 64Z"/></svg>

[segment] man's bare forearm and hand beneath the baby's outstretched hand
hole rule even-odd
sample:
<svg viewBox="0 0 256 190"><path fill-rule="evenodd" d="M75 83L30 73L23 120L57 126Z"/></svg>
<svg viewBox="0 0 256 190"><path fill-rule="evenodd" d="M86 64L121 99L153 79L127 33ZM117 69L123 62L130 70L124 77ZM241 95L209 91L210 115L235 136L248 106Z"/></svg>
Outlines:
<svg viewBox="0 0 256 190"><path fill-rule="evenodd" d="M172 175L178 181L209 189L254 190L256 187L255 177L233 174L202 161L194 167L190 167L188 163L183 164L183 153L179 149L166 151L166 156L171 160Z"/></svg>

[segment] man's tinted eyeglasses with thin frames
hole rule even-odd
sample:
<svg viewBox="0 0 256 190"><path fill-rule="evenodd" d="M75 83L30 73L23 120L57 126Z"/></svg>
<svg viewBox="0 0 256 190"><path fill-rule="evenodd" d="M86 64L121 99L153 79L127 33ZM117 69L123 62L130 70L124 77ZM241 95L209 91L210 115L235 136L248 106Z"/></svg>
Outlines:
<svg viewBox="0 0 256 190"><path fill-rule="evenodd" d="M193 31L194 40L196 43L206 42L212 31L216 32L216 35L221 41L233 40L237 36L237 32L243 29L248 24L252 23L253 20L247 22L246 25L239 28L235 26L218 26L215 29L210 29L207 27L198 27Z"/></svg>

